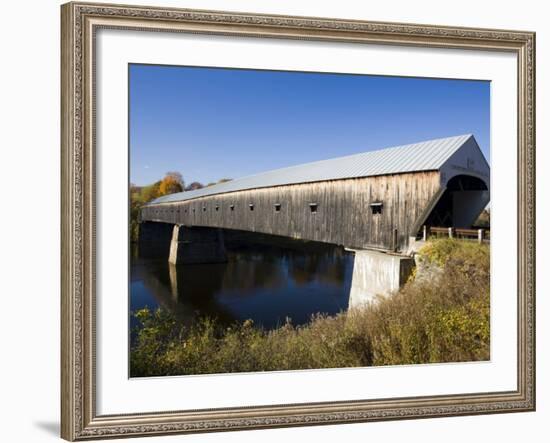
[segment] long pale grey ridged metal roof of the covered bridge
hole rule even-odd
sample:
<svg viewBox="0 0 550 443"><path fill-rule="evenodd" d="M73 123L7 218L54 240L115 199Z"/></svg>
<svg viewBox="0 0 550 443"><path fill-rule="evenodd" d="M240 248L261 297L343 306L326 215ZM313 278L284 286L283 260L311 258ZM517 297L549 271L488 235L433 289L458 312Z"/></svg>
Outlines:
<svg viewBox="0 0 550 443"><path fill-rule="evenodd" d="M149 204L177 202L226 192L297 183L371 177L403 172L433 171L439 169L471 137L473 135L466 134L440 138L274 169L195 191L165 195Z"/></svg>

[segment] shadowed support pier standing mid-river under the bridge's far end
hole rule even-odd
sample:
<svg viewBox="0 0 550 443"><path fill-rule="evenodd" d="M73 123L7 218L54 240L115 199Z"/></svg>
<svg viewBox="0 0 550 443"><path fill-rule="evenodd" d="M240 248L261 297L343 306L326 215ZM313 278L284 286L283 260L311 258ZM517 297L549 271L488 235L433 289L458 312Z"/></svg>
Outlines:
<svg viewBox="0 0 550 443"><path fill-rule="evenodd" d="M174 225L168 261L173 264L226 262L222 230Z"/></svg>

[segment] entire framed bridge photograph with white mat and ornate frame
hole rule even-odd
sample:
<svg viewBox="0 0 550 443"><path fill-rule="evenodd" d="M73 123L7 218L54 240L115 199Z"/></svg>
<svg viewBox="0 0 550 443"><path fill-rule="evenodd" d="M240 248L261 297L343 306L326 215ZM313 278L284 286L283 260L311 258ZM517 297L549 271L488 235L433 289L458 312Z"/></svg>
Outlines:
<svg viewBox="0 0 550 443"><path fill-rule="evenodd" d="M63 438L535 409L534 33L61 17Z"/></svg>

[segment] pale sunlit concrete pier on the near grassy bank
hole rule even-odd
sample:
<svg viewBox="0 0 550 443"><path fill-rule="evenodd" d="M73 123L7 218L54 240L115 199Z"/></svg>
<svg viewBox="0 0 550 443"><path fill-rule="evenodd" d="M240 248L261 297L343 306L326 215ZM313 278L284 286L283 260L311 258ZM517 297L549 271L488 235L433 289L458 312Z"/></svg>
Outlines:
<svg viewBox="0 0 550 443"><path fill-rule="evenodd" d="M354 251L353 275L349 309L376 302L376 296L386 296L399 290L414 268L414 259L377 251Z"/></svg>

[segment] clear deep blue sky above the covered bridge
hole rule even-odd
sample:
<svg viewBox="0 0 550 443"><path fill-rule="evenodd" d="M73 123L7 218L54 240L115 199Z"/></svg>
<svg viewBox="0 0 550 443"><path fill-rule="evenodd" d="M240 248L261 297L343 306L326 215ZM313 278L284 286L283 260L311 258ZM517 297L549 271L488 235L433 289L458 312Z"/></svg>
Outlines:
<svg viewBox="0 0 550 443"><path fill-rule="evenodd" d="M472 133L489 161L490 83L131 65L130 181L187 184Z"/></svg>

